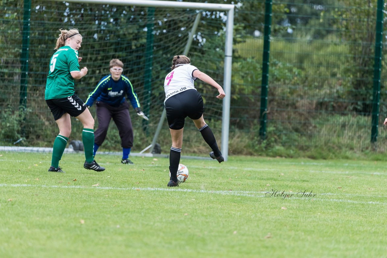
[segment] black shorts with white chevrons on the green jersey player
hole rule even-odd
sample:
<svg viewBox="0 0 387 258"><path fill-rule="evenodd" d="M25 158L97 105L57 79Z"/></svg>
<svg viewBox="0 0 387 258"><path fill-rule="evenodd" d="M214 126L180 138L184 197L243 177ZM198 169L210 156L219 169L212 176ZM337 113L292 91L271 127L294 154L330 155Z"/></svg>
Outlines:
<svg viewBox="0 0 387 258"><path fill-rule="evenodd" d="M85 103L76 94L60 99L47 99L46 103L54 116L55 121L68 113L70 116L79 116L86 109Z"/></svg>

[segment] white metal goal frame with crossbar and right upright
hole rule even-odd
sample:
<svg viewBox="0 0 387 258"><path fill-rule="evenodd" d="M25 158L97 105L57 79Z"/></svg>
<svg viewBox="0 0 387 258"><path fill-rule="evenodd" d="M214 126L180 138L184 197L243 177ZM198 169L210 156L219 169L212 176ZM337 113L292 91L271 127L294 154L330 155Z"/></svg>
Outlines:
<svg viewBox="0 0 387 258"><path fill-rule="evenodd" d="M63 0L53 0L63 2ZM227 12L226 21L226 40L224 48L224 77L223 89L226 97L223 99L222 107L222 137L221 151L224 160L228 160L228 138L230 124L230 101L231 101L231 70L233 57L233 30L234 30L234 5L222 3L191 3L191 2L172 2L161 0L65 0L65 2L75 3L96 3L111 5L136 5L145 7L170 7L170 8L188 8L201 10L217 10Z"/></svg>

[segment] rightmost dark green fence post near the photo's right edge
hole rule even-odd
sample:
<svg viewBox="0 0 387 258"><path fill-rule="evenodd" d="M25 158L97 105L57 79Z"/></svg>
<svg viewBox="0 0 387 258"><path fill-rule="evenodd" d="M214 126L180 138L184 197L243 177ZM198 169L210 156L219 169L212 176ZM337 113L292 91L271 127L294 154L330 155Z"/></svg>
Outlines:
<svg viewBox="0 0 387 258"><path fill-rule="evenodd" d="M380 106L380 73L382 71L382 46L383 46L383 8L384 0L378 0L376 15L375 37L375 63L373 66L373 92L372 92L372 129L371 143L376 149L378 140L379 106Z"/></svg>

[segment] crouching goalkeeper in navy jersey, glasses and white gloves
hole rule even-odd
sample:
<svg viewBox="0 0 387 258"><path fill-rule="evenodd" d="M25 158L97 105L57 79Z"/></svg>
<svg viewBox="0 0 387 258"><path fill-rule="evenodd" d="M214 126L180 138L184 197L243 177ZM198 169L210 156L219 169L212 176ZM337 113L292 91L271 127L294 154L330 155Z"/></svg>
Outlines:
<svg viewBox="0 0 387 258"><path fill-rule="evenodd" d="M98 82L95 89L86 99L86 106L88 108L96 101L98 128L94 132L94 156L99 146L105 140L110 120L113 118L121 138L121 163L133 164L128 159L130 149L133 146L133 128L128 109L129 104L125 100L125 94L137 114L145 120L148 120L148 118L141 111L139 99L130 80L125 75L122 75L123 63L119 59L112 59L109 66L110 74Z"/></svg>

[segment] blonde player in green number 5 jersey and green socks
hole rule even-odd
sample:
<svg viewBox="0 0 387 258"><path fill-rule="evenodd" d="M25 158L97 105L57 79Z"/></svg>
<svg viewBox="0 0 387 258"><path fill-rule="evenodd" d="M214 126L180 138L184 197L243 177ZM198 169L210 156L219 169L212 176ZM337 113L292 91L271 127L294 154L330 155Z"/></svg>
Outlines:
<svg viewBox="0 0 387 258"><path fill-rule="evenodd" d="M64 173L59 161L62 159L68 137L71 133L70 116L74 116L83 124L82 142L86 161L84 168L94 171L104 171L93 157L94 118L85 103L75 94L74 79L80 79L87 74L87 68L79 69L78 50L82 36L78 29L60 30L57 38L57 50L50 59L50 70L47 76L45 99L51 109L59 134L55 138L52 152L51 167L48 171Z"/></svg>

